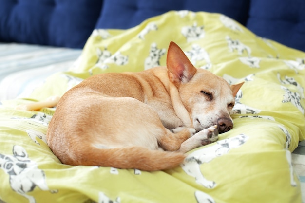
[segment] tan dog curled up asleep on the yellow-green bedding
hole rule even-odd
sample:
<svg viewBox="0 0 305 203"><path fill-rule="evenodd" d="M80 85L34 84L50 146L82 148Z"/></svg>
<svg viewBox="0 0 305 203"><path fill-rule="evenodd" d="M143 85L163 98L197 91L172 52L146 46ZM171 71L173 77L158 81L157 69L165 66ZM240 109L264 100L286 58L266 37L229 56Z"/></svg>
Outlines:
<svg viewBox="0 0 305 203"><path fill-rule="evenodd" d="M242 84L197 70L171 42L167 68L98 74L66 92L47 142L64 164L172 168L233 127L229 111Z"/></svg>

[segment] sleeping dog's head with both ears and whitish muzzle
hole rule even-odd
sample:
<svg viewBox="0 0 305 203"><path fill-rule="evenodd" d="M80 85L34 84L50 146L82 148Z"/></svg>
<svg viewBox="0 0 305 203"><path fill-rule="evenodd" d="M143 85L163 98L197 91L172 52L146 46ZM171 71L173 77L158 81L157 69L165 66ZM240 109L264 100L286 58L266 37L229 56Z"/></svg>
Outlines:
<svg viewBox="0 0 305 203"><path fill-rule="evenodd" d="M243 82L230 86L225 79L210 71L196 69L174 42L169 46L167 68L169 79L178 89L196 131L213 125L218 126L220 133L233 128L229 112Z"/></svg>

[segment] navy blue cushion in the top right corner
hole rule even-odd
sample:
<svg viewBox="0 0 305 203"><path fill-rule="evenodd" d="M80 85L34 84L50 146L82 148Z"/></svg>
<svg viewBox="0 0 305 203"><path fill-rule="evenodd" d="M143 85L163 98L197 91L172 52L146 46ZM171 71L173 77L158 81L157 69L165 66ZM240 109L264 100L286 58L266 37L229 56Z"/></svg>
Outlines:
<svg viewBox="0 0 305 203"><path fill-rule="evenodd" d="M305 1L252 0L247 27L258 36L305 51Z"/></svg>

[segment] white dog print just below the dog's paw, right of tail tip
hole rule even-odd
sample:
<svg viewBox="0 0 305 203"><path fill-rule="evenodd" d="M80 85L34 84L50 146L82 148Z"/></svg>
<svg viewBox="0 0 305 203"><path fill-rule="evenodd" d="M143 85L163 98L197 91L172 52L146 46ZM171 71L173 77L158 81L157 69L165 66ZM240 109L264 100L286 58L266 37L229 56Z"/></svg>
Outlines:
<svg viewBox="0 0 305 203"><path fill-rule="evenodd" d="M220 140L211 147L199 149L188 155L181 167L188 175L195 178L197 184L206 188L214 188L216 183L204 177L200 170L200 165L209 163L213 159L229 153L231 149L241 147L247 140L248 136L244 134Z"/></svg>

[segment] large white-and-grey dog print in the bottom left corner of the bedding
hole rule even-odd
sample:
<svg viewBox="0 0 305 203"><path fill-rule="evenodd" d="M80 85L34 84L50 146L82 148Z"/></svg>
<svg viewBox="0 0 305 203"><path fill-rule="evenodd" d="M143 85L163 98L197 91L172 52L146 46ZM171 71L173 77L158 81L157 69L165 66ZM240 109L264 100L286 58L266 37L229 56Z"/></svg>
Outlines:
<svg viewBox="0 0 305 203"><path fill-rule="evenodd" d="M44 172L28 158L27 152L21 146L13 147L13 155L0 154L0 168L9 175L11 188L28 199L29 203L36 203L35 198L27 194L36 187L52 193L57 192L49 189Z"/></svg>

